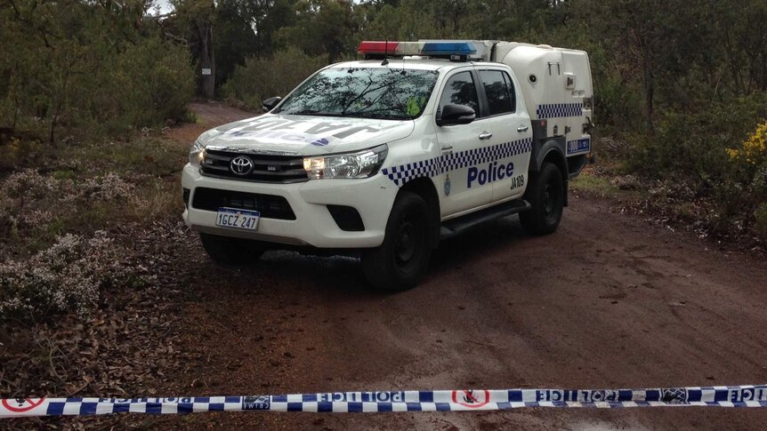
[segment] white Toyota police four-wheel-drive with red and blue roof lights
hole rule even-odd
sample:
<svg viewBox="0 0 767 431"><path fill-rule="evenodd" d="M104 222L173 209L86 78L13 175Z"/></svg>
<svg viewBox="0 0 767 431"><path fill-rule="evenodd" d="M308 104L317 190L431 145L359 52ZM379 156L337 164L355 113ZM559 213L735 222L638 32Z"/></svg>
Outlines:
<svg viewBox="0 0 767 431"><path fill-rule="evenodd" d="M585 52L497 41L363 42L262 116L203 133L183 219L210 256L359 254L412 287L440 238L519 213L552 233L591 151Z"/></svg>

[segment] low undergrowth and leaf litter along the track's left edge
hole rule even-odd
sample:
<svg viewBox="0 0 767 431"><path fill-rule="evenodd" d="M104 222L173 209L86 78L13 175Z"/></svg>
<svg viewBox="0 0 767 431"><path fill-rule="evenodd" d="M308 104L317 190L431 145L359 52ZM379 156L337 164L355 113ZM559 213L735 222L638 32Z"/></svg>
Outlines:
<svg viewBox="0 0 767 431"><path fill-rule="evenodd" d="M161 370L182 367L174 298L189 283L176 257L196 245L179 217L187 148L145 134L20 153L0 177L0 397L174 388ZM104 420L69 426L88 423Z"/></svg>

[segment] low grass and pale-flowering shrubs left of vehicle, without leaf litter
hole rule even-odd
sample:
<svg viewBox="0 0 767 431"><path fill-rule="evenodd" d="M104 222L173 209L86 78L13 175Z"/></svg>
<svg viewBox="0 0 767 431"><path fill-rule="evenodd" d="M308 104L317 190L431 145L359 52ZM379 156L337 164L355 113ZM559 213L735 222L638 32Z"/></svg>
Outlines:
<svg viewBox="0 0 767 431"><path fill-rule="evenodd" d="M174 172L184 153L150 137L92 144L73 148L67 164L47 172L0 180L0 321L69 311L85 317L105 287L148 283L147 268L133 263L132 248L116 236L178 222Z"/></svg>

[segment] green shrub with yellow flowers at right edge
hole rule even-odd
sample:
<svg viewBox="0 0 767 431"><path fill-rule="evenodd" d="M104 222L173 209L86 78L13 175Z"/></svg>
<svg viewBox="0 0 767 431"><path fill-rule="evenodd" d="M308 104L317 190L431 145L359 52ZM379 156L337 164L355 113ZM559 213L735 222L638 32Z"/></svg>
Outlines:
<svg viewBox="0 0 767 431"><path fill-rule="evenodd" d="M628 169L668 184L677 201L705 202L709 210L701 218L709 230L759 231L767 199L765 117L764 92L692 111L661 111L654 134L626 136ZM681 196L685 189L690 196Z"/></svg>

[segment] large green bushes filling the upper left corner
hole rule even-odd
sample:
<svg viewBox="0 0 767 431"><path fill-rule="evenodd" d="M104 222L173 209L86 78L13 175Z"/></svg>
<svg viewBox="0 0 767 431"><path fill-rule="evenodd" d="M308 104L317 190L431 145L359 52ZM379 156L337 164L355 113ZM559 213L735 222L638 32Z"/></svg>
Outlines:
<svg viewBox="0 0 767 431"><path fill-rule="evenodd" d="M22 0L0 7L0 40L0 129L21 140L97 140L181 120L194 89L188 48L166 41L137 0Z"/></svg>

